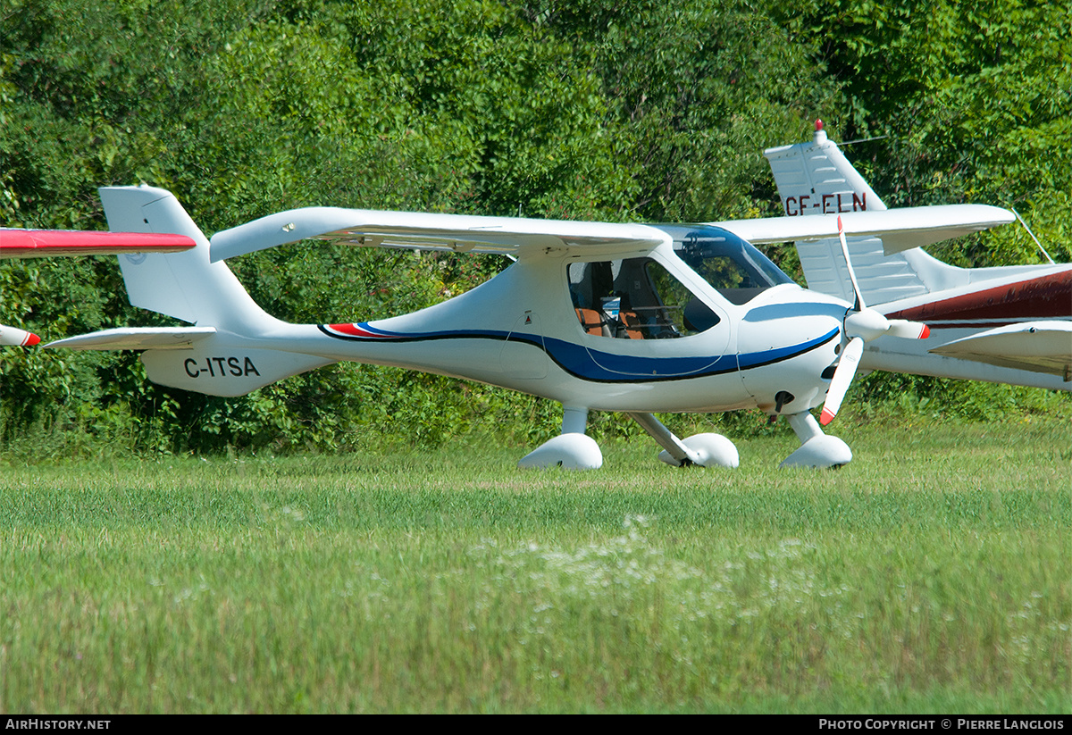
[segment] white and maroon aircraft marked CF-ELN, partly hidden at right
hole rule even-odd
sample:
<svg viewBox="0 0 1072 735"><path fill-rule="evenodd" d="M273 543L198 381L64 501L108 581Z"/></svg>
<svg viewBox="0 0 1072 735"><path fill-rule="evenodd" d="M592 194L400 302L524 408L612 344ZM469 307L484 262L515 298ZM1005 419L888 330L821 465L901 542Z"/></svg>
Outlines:
<svg viewBox="0 0 1072 735"><path fill-rule="evenodd" d="M810 142L771 148L764 155L786 212L784 231L775 234L762 221L719 224L755 243L795 240L808 288L851 299L838 215L846 222L895 219L905 210L887 210L821 121ZM919 223L950 211L914 209ZM1003 220L1013 222L1013 213ZM866 303L889 318L926 321L933 330L926 343L890 335L868 343L862 370L1072 390L1072 265L957 268L921 250L927 242L895 230L846 239Z"/></svg>

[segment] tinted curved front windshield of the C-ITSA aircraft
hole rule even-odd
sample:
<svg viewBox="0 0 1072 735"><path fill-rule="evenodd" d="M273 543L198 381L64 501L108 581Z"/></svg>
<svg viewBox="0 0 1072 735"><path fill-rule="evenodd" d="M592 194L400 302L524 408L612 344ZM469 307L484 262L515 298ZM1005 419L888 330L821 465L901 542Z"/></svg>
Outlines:
<svg viewBox="0 0 1072 735"><path fill-rule="evenodd" d="M793 281L750 243L711 225L656 225L673 238L673 252L730 303Z"/></svg>

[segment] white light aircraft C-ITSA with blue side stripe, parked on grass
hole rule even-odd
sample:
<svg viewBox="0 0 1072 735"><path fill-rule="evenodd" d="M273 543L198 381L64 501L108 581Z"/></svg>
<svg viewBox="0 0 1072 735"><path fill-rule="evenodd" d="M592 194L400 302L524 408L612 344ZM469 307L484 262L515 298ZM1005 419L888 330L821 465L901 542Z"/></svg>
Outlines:
<svg viewBox="0 0 1072 735"><path fill-rule="evenodd" d="M753 245L710 225L560 222L314 207L206 238L169 192L105 188L114 230L197 242L172 255L119 258L131 303L192 326L121 328L48 347L144 350L158 384L241 395L338 361L394 365L502 386L563 405L562 434L520 466L595 468L589 411L622 411L670 465L736 466L718 434L684 439L656 412L759 408L801 441L783 465L839 466L852 452L810 409L836 412L859 344L924 336L859 298L801 288ZM994 210L994 211L992 211ZM993 219L965 206L956 226ZM780 226L783 218L769 222ZM847 227L866 227L867 216ZM930 225L928 225L929 227ZM952 226L947 223L947 226ZM895 230L913 231L905 210ZM359 246L496 253L516 261L476 288L412 314L357 324L293 325L263 311L225 259L315 238ZM846 359L848 354L849 359Z"/></svg>

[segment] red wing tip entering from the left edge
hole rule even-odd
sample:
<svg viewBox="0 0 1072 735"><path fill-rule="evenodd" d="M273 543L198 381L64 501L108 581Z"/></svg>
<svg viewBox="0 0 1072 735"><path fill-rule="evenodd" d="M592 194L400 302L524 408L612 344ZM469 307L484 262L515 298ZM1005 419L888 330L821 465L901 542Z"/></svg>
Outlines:
<svg viewBox="0 0 1072 735"><path fill-rule="evenodd" d="M190 250L194 244L194 241L184 235L0 227L0 258L180 253Z"/></svg>

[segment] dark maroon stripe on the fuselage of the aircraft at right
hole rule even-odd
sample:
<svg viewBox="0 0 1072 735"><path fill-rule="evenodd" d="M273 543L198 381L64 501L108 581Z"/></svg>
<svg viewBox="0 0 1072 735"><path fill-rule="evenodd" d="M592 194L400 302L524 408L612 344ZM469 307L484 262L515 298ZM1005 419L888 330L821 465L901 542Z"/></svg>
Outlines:
<svg viewBox="0 0 1072 735"><path fill-rule="evenodd" d="M1025 319L1072 317L1072 270L1017 281L981 291L887 314L891 319L926 321L986 320L991 327Z"/></svg>

